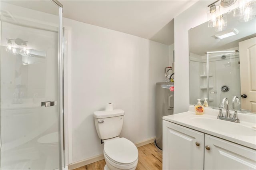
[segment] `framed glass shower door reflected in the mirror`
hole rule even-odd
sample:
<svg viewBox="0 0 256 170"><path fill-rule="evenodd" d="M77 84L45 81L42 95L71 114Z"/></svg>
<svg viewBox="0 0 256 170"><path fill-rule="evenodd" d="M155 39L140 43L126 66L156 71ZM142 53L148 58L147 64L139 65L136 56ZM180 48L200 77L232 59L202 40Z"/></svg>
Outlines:
<svg viewBox="0 0 256 170"><path fill-rule="evenodd" d="M218 107L224 97L240 98L240 62L238 51L216 51L208 53L208 100L209 106ZM230 109L232 109L230 107ZM240 105L236 106L240 109Z"/></svg>

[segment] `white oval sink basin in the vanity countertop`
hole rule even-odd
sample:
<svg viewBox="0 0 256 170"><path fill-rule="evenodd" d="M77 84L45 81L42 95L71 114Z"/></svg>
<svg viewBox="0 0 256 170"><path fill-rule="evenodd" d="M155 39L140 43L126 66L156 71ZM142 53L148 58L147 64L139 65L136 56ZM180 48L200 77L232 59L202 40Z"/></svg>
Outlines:
<svg viewBox="0 0 256 170"><path fill-rule="evenodd" d="M223 121L220 119L211 119L205 117L193 117L190 119L191 125L197 125L198 127L207 127L213 131L225 132L233 135L241 136L256 136L256 129L241 125L240 123Z"/></svg>

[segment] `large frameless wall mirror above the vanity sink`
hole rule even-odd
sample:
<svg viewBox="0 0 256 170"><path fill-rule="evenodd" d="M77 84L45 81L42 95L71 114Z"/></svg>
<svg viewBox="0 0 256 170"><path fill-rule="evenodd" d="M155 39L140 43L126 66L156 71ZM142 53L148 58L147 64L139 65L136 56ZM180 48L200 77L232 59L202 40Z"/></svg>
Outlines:
<svg viewBox="0 0 256 170"><path fill-rule="evenodd" d="M232 99L238 96L241 105L236 104L236 110L256 113L256 18L239 22L239 17L233 16L233 10L224 15L227 28L221 32L208 28L207 22L188 31L190 104L196 104L197 99L203 104L207 98L209 107L219 107L222 99L227 97L231 110ZM234 35L222 39L217 37L228 32ZM248 42L252 43L250 47ZM246 54L246 48L250 56Z"/></svg>

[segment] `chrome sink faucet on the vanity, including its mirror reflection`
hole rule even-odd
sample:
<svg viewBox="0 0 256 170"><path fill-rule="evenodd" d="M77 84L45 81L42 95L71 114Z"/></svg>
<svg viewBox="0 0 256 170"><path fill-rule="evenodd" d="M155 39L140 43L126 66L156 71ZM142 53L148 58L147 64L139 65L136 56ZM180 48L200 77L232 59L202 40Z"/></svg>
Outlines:
<svg viewBox="0 0 256 170"><path fill-rule="evenodd" d="M229 113L229 104L228 104L228 98L223 98L221 105L219 107L219 115L217 117L217 119L221 119L221 120L225 120L225 121L230 121L230 122L236 122L236 123L240 123L240 120L237 117L237 111L234 109L234 105L235 105L235 101L237 104L240 104L240 100L237 96L235 96L232 100L232 106L233 106L233 110L234 110L234 115L231 118L231 115ZM226 106L226 107L225 107ZM226 115L225 117L222 114L222 109L226 109Z"/></svg>

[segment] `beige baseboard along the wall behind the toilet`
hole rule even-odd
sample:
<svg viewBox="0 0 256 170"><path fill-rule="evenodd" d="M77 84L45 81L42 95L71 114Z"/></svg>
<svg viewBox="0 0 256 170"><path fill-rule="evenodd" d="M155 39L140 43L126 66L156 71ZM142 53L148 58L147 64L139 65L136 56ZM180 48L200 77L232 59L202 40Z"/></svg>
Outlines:
<svg viewBox="0 0 256 170"><path fill-rule="evenodd" d="M141 142L135 143L135 146L138 148L140 146L150 144L150 143L154 142L155 138L156 137L148 138L146 140L142 140ZM88 158L88 159L85 159L85 160L80 160L78 162L74 162L72 164L69 164L68 169L73 170L73 169L79 168L81 166L92 164L94 162L97 162L97 161L100 161L100 160L103 160L103 159L104 159L103 154L100 154L100 155L97 155L97 156L94 156L94 157L91 157L91 158Z"/></svg>

